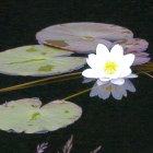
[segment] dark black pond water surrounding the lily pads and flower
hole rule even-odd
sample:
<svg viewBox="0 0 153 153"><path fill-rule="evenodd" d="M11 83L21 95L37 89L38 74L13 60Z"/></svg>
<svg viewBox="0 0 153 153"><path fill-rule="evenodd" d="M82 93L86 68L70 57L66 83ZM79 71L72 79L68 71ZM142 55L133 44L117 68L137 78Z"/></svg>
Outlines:
<svg viewBox="0 0 153 153"><path fill-rule="evenodd" d="M46 26L79 21L104 22L130 28L136 37L152 37L153 2L145 0L8 0L1 7L0 50L37 44L35 33ZM150 45L149 52L153 49ZM0 87L5 87L37 78L0 75ZM44 104L63 98L87 89L93 83L82 84L82 79L47 84L21 91L0 93L0 103L5 101L39 97ZM0 153L34 153L36 145L49 142L46 153L56 153L74 134L72 153L89 153L102 145L102 153L152 153L152 95L153 82L146 75L132 80L137 92L116 101L90 97L89 93L71 99L83 109L83 116L74 125L45 134L7 133L0 131Z"/></svg>

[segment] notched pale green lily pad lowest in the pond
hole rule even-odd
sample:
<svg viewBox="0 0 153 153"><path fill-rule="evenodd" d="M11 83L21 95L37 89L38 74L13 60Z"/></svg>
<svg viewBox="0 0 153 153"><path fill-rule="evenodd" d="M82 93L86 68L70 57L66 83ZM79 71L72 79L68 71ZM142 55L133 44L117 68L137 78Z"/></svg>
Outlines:
<svg viewBox="0 0 153 153"><path fill-rule="evenodd" d="M82 109L66 101L54 101L44 106L35 98L23 98L0 105L0 129L34 133L55 131L78 120Z"/></svg>

